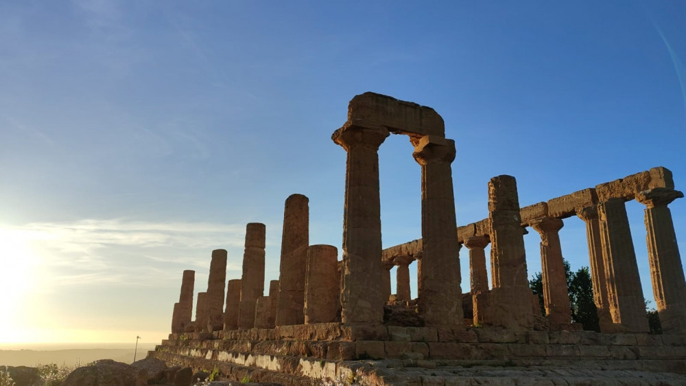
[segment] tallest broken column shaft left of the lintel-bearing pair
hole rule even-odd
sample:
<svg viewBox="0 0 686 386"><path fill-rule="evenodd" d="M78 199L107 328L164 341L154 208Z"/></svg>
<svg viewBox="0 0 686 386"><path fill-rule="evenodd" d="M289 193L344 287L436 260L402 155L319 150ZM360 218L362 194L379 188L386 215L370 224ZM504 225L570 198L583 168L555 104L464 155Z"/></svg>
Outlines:
<svg viewBox="0 0 686 386"><path fill-rule="evenodd" d="M286 199L281 237L281 268L276 326L305 323L305 266L309 245L309 200L302 194Z"/></svg>

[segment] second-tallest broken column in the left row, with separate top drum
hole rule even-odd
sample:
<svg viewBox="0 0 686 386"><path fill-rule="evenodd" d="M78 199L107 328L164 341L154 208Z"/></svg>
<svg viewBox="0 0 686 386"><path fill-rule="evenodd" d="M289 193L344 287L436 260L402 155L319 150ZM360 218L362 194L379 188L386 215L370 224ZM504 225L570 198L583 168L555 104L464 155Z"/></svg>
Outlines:
<svg viewBox="0 0 686 386"><path fill-rule="evenodd" d="M257 298L264 294L264 247L265 225L249 223L246 227L246 250L243 254L238 316L238 328L241 330L255 326Z"/></svg>

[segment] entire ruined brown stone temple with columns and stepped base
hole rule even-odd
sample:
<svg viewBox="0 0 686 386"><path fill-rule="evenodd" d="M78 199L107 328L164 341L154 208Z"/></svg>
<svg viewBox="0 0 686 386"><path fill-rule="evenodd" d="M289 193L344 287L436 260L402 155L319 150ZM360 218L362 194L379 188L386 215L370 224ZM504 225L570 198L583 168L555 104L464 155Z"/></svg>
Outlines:
<svg viewBox="0 0 686 386"><path fill-rule="evenodd" d="M390 133L410 138L421 166L422 238L384 249L377 150ZM514 177L493 177L488 218L458 227L455 143L434 109L357 95L332 139L347 152L342 261L334 246L309 245L308 198L289 196L279 280L268 296L265 225L250 223L242 276L227 283L226 251L213 251L191 319L194 272L184 271L169 339L149 356L283 385L686 384L686 282L668 207L683 194L670 170L652 168L525 207ZM646 205L663 334L648 333L630 200ZM571 322L558 232L572 216L586 224L600 332ZM541 238L545 315L529 288L528 231ZM460 290L463 246L469 293ZM410 264L418 272L416 299Z"/></svg>

